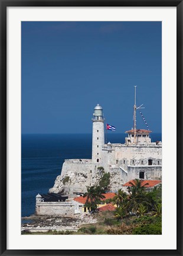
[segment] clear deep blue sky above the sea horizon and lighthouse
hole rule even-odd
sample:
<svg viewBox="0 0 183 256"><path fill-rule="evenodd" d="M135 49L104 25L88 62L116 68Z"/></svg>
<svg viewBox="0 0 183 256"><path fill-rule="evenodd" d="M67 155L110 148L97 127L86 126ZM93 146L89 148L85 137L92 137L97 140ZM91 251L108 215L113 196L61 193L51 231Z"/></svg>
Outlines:
<svg viewBox="0 0 183 256"><path fill-rule="evenodd" d="M22 22L22 133L92 133L93 108L123 133L137 105L161 132L161 22ZM137 113L138 129L145 129Z"/></svg>

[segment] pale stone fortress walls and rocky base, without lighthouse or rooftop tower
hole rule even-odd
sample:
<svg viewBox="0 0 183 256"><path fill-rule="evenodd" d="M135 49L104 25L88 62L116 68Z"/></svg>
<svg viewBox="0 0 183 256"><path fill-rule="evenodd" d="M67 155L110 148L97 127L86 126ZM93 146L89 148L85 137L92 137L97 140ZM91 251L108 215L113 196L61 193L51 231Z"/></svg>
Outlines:
<svg viewBox="0 0 183 256"><path fill-rule="evenodd" d="M123 184L134 178L140 178L143 172L146 179L162 178L162 146L126 146L112 144L107 150L103 146L103 155L100 162L92 159L68 159L64 162L61 175L55 180L49 192L59 193L64 189L66 194L86 192L86 187L95 185L100 180L98 167L110 172L110 189L117 191ZM149 162L150 161L150 162ZM66 184L64 178L69 177Z"/></svg>

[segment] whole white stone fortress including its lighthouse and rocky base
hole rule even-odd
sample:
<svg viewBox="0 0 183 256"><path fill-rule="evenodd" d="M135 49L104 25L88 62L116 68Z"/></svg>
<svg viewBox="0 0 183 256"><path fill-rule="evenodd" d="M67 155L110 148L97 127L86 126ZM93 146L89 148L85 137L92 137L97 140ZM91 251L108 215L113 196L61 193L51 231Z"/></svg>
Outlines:
<svg viewBox="0 0 183 256"><path fill-rule="evenodd" d="M136 105L134 106L136 110ZM162 143L151 142L149 130L127 131L125 144L104 143L103 109L97 104L93 113L92 159L67 159L61 175L49 192L66 194L85 192L86 186L100 180L100 167L110 173L110 190L117 191L135 178L157 180L162 178ZM67 183L63 183L67 177Z"/></svg>

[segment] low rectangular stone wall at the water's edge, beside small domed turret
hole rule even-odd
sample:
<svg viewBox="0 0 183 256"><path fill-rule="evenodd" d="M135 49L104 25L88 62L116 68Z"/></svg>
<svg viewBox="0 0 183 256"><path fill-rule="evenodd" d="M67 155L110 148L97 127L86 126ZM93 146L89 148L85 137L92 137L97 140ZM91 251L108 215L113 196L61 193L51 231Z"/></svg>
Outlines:
<svg viewBox="0 0 183 256"><path fill-rule="evenodd" d="M41 202L35 204L36 215L74 215L74 204L68 202Z"/></svg>

